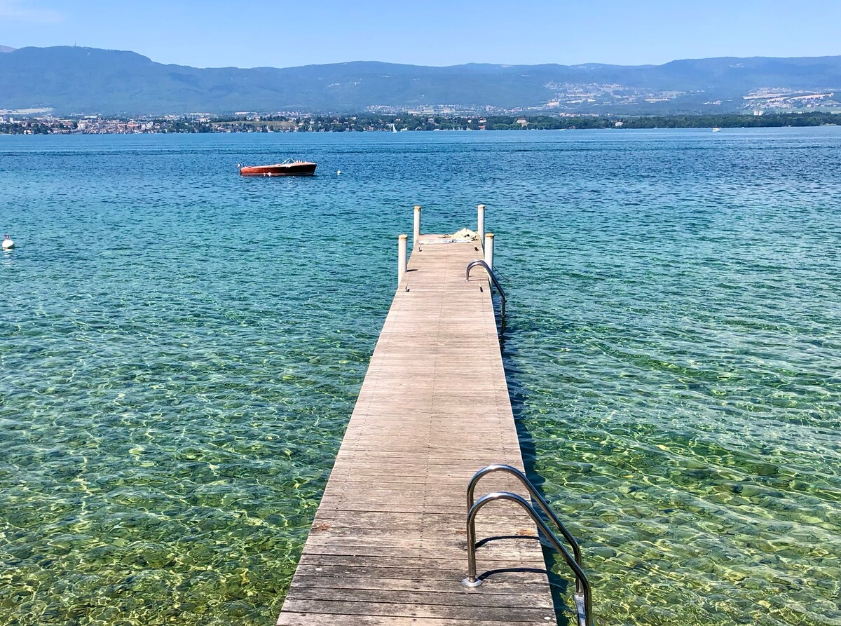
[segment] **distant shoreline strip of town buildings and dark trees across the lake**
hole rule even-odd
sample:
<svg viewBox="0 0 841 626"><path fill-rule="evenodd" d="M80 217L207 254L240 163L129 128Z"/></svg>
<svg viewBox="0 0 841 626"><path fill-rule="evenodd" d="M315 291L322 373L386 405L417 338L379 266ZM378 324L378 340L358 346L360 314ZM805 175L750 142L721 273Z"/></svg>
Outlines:
<svg viewBox="0 0 841 626"><path fill-rule="evenodd" d="M2 119L2 118L0 118ZM262 115L3 119L0 135L142 135L255 132L405 132L431 130L590 130L781 128L841 125L841 114L659 116L566 115Z"/></svg>

